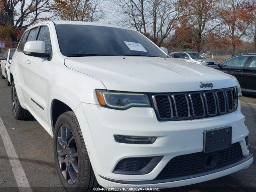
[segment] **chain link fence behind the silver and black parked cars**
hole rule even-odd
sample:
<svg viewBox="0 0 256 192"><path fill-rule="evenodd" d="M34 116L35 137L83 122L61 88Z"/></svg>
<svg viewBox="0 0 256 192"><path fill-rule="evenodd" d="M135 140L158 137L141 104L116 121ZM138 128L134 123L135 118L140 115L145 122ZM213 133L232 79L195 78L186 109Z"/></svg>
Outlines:
<svg viewBox="0 0 256 192"><path fill-rule="evenodd" d="M169 54L176 51L192 51L202 53L206 58L215 60L216 64L234 56L246 54L249 52L233 52L229 50L193 50L193 49L168 49Z"/></svg>

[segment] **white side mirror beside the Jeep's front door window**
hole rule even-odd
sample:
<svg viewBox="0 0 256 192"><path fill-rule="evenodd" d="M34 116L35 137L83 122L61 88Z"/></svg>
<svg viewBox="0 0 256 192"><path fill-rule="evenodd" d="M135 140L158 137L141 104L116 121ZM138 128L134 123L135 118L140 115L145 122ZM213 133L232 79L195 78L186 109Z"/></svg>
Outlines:
<svg viewBox="0 0 256 192"><path fill-rule="evenodd" d="M50 58L50 53L45 53L44 41L28 41L24 46L24 54L33 57Z"/></svg>

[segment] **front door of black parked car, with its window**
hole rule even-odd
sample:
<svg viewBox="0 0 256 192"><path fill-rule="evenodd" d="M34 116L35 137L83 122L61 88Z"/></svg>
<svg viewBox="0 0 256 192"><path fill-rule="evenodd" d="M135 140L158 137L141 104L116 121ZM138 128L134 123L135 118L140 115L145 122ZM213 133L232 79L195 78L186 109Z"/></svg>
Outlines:
<svg viewBox="0 0 256 192"><path fill-rule="evenodd" d="M249 60L250 56L242 55L230 58L221 64L219 70L235 76L238 82L241 84L242 72L246 62Z"/></svg>

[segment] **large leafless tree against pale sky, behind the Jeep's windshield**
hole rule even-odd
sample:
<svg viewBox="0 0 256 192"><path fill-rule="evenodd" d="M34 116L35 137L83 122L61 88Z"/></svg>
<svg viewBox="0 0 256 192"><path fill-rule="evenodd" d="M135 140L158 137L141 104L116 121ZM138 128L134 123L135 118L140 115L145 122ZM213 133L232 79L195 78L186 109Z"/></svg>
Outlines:
<svg viewBox="0 0 256 192"><path fill-rule="evenodd" d="M112 0L119 23L162 46L184 16L187 0Z"/></svg>

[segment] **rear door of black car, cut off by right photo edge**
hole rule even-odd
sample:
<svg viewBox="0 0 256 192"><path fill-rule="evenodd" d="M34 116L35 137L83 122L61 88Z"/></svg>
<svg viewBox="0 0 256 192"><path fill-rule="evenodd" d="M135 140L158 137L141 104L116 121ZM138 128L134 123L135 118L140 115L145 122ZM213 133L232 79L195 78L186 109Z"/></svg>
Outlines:
<svg viewBox="0 0 256 192"><path fill-rule="evenodd" d="M256 56L251 56L244 66L241 81L243 91L256 93Z"/></svg>

